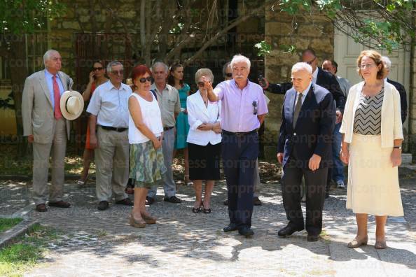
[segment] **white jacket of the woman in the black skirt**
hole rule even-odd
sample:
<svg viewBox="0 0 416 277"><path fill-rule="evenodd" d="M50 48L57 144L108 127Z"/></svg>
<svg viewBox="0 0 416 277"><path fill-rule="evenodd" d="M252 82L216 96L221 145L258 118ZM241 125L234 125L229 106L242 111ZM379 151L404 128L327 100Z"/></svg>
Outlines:
<svg viewBox="0 0 416 277"><path fill-rule="evenodd" d="M204 100L198 90L186 99L186 109L188 110L189 133L188 143L197 145L212 145L221 142L221 134L214 131L201 131L197 129L203 123L221 122L221 101L210 102L208 107L205 106Z"/></svg>

